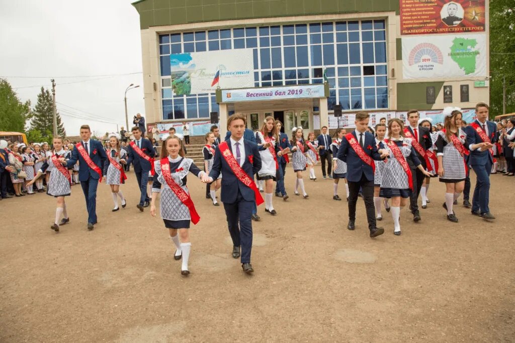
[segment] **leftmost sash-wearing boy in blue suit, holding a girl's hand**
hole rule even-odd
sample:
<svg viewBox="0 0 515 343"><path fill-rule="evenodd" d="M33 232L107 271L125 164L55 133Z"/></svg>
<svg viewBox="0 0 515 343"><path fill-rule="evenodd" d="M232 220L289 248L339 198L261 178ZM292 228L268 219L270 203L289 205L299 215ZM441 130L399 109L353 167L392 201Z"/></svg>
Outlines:
<svg viewBox="0 0 515 343"><path fill-rule="evenodd" d="M72 151L72 157L67 161L61 158L61 163L66 164L68 168L73 168L77 161L79 161L79 181L86 198L86 207L88 208L88 230L93 230L93 225L97 223L96 190L98 180L102 176L102 170L104 170L104 161L107 159L107 155L101 142L90 139L91 130L89 125L82 125L80 127L80 138L81 141L78 145L84 149L86 159L84 159L79 153L77 146L75 146Z"/></svg>

